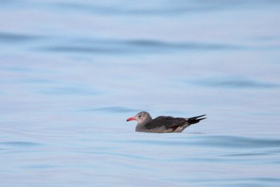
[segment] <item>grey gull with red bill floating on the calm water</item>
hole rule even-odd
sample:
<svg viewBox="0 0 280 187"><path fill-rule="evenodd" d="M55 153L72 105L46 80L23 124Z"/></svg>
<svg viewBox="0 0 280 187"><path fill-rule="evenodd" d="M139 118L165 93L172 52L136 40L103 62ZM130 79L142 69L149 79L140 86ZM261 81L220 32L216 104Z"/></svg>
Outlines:
<svg viewBox="0 0 280 187"><path fill-rule="evenodd" d="M202 115L206 116L206 115ZM153 119L150 113L141 111L136 116L128 118L127 121L137 120L135 130L137 132L182 132L186 127L199 123L202 116L195 116L193 118L174 118L172 116L159 116Z"/></svg>

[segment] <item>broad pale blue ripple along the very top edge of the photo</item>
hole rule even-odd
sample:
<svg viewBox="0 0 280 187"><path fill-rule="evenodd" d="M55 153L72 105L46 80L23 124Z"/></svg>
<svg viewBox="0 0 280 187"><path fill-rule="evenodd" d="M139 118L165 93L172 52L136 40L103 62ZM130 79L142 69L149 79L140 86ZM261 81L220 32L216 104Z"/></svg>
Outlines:
<svg viewBox="0 0 280 187"><path fill-rule="evenodd" d="M156 2L156 1L155 1ZM243 1L242 1L243 2ZM176 4L170 4L168 1L161 2L161 4L153 4L151 1L142 4L112 4L111 6L102 6L95 3L65 3L59 2L53 4L56 8L63 8L65 11L81 11L89 13L98 13L105 15L182 15L186 13L201 13L206 11L221 11L224 9L231 9L235 6L242 6L241 1L232 3L230 1L206 1L204 4L193 3L189 1L178 1ZM145 4L146 6L142 6ZM245 3L246 5L246 3Z"/></svg>

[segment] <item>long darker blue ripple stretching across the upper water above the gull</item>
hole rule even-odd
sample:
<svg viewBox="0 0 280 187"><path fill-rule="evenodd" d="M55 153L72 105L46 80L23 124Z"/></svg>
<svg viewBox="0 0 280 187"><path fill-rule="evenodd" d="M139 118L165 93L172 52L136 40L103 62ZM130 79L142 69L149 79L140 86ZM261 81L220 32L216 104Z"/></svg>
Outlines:
<svg viewBox="0 0 280 187"><path fill-rule="evenodd" d="M38 50L55 53L158 53L177 50L238 50L241 46L223 43L166 42L155 40L91 40L78 39L61 45L39 47Z"/></svg>

